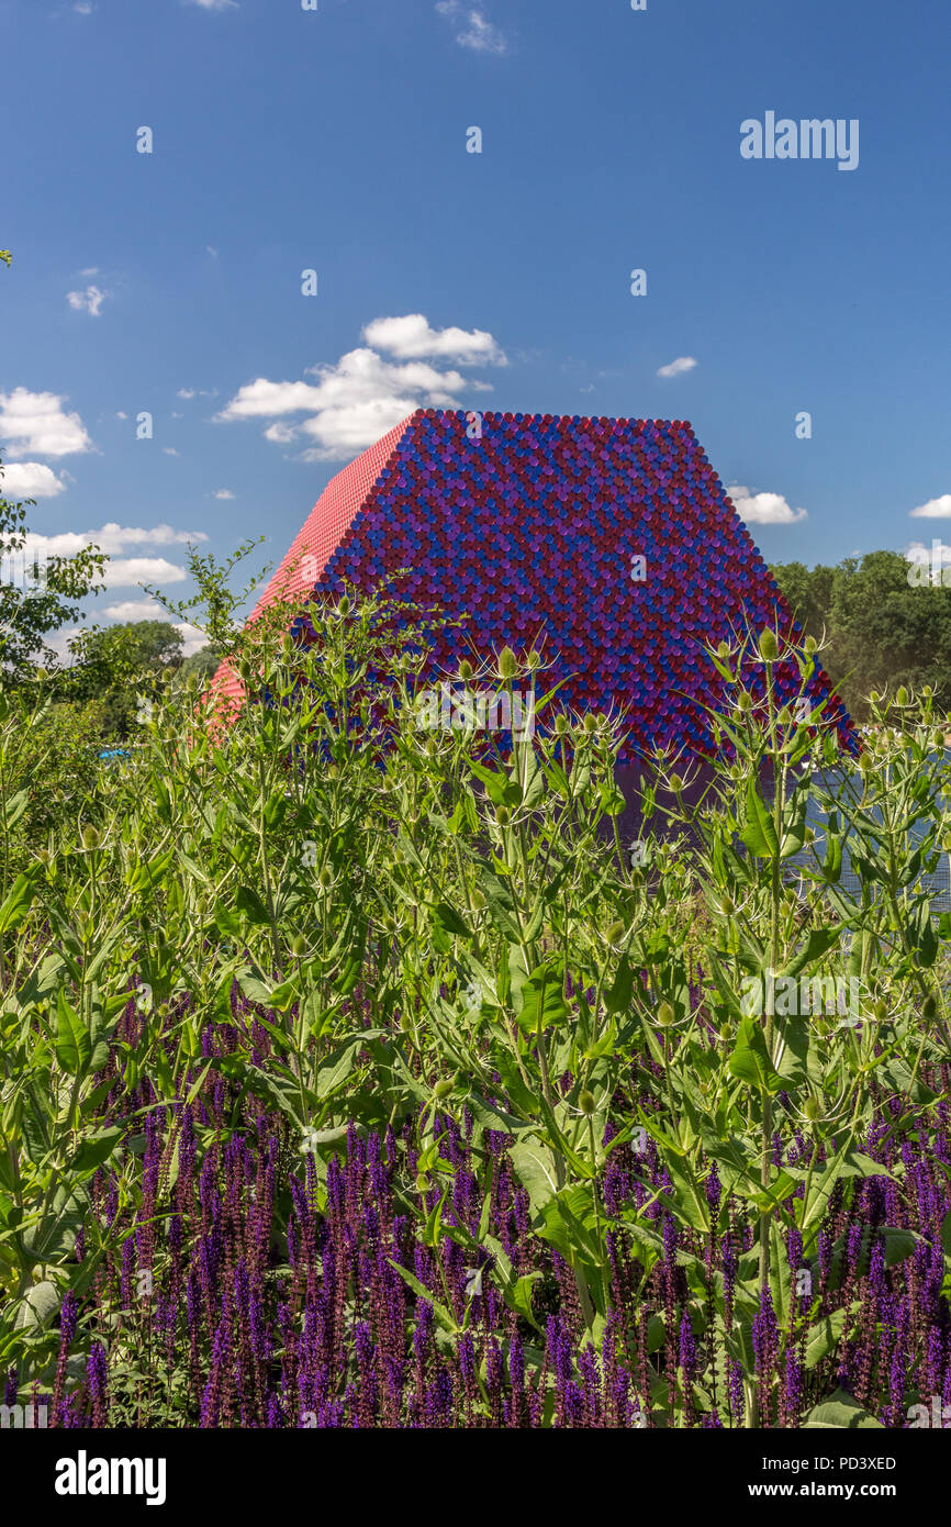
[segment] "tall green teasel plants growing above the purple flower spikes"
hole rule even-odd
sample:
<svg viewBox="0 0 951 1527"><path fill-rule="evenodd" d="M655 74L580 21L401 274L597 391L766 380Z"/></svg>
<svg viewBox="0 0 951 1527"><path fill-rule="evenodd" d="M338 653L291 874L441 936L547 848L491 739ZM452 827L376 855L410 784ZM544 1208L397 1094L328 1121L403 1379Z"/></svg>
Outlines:
<svg viewBox="0 0 951 1527"><path fill-rule="evenodd" d="M289 1150L310 1142L318 1182L348 1124L406 1125L418 1165L415 1186L400 1186L401 1209L418 1217L424 1245L449 1237L488 1254L528 1327L540 1280L519 1277L485 1217L476 1232L443 1215L455 1168L437 1116L472 1119L487 1193L502 1138L534 1234L569 1267L585 1341L604 1336L612 1246L640 1269L620 1312L618 1339L633 1341L664 1251L659 1205L681 1235L704 1382L737 1364L745 1422L757 1425L772 1403L751 1345L765 1287L779 1341L804 1344L811 1371L832 1368L844 1339L818 1299L792 1299L783 1238L795 1232L814 1266L830 1202L890 1174L862 1150L882 1096L896 1099L888 1128L943 1098L931 1089L949 1048L940 971L951 928L936 927L924 883L948 788L933 699L875 702L878 730L856 770L821 715L798 724L779 705L777 661L798 670L804 695L811 660L775 632L737 638L711 655L730 686L725 713L711 718L711 788L688 805L690 765L679 760L675 779L656 759L646 805L667 834L649 841L646 872L630 869L618 838L621 738L608 718L562 716L505 748L426 730L412 701L430 612L383 589L282 608L240 632L221 570L197 571L215 657L240 675L246 704L226 712L194 675L166 686L140 745L96 771L43 846L24 841L20 823L46 767L37 739L49 702L35 686L0 707L0 1359L47 1371L43 1310L116 1254L89 1183L114 1161L119 1193L133 1191L139 1078L150 1078L150 1099L169 1104L211 1072L235 1098L278 1110ZM281 629L289 617L296 644ZM527 657L501 658L467 681L517 687L534 673L543 687ZM856 898L829 843L804 828L818 770L840 864L852 840ZM687 831L690 851L678 838ZM800 895L792 852L804 857ZM687 916L705 973L699 1003ZM743 1011L748 982L772 993L775 973L855 977L858 1022L818 1012L804 1023L772 996ZM256 1005L267 1061L232 1020L235 982ZM130 996L134 1043L118 1029ZM209 1020L230 1025L232 1043L195 1078ZM211 1133L203 1147L218 1150ZM604 1173L635 1133L656 1147L664 1186L609 1211ZM777 1167L775 1139L789 1145L797 1133L806 1153ZM702 1255L725 1228L707 1194L710 1161L756 1229L730 1299ZM435 1206L420 1182L438 1185ZM95 1226L82 1264L72 1257L79 1223ZM885 1232L887 1263L913 1246L908 1232ZM53 1290L41 1309L31 1304L37 1283ZM447 1306L434 1312L447 1335L459 1328ZM656 1319L656 1344L670 1344ZM661 1390L644 1403L662 1425L684 1425L673 1377ZM809 1425L867 1422L832 1396Z"/></svg>

